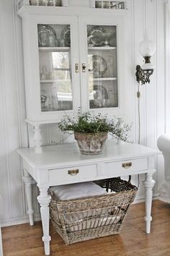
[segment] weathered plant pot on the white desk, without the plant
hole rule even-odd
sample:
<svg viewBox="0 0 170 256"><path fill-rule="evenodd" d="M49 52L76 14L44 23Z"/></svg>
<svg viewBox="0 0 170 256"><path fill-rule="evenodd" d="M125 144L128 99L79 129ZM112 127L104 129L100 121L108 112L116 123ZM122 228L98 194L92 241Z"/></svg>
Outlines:
<svg viewBox="0 0 170 256"><path fill-rule="evenodd" d="M79 145L79 150L83 155L99 155L102 153L107 140L107 132L80 133L75 132L74 138Z"/></svg>

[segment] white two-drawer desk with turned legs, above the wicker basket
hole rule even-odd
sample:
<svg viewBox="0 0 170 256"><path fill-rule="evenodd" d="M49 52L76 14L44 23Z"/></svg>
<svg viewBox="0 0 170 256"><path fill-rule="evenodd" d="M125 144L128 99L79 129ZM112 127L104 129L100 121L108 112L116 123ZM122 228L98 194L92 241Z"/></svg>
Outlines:
<svg viewBox="0 0 170 256"><path fill-rule="evenodd" d="M37 187L40 189L37 200L40 203L45 255L50 255L48 207L50 195L48 195L48 188L54 185L87 182L115 176L146 174L146 179L143 181L146 187L145 221L146 233L150 233L152 189L155 184L152 176L156 171L154 169L155 155L160 153L158 150L130 143L115 145L114 140L107 140L102 155L81 155L75 143L45 146L42 147L42 153L35 153L34 148L22 148L17 152L22 156L23 161L23 179L30 225L34 223L32 178L35 179Z"/></svg>

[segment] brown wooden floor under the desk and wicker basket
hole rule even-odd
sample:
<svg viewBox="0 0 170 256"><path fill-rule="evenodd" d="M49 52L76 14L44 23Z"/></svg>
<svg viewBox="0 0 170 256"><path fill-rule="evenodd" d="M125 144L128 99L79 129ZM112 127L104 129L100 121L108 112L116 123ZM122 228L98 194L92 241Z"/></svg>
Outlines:
<svg viewBox="0 0 170 256"><path fill-rule="evenodd" d="M50 226L55 256L170 256L170 205L153 201L151 234L145 233L144 204L131 205L120 235L65 245ZM43 256L40 221L2 229L4 256Z"/></svg>

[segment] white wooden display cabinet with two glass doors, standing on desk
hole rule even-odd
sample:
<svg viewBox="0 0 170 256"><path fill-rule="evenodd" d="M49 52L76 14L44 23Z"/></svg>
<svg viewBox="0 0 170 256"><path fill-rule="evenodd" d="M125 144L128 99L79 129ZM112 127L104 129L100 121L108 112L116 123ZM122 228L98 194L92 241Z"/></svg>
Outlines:
<svg viewBox="0 0 170 256"><path fill-rule="evenodd" d="M123 17L127 10L24 5L27 123L40 152L40 124L93 111L124 114Z"/></svg>

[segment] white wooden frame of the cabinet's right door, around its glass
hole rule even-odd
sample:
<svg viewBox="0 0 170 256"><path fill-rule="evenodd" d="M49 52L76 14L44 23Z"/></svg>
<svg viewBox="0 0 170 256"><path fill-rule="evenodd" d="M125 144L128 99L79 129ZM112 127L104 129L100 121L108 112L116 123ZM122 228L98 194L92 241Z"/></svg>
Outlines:
<svg viewBox="0 0 170 256"><path fill-rule="evenodd" d="M123 74L123 66L125 64L124 56L124 17L119 15L111 17L79 17L79 33L80 33L80 61L88 66L88 47L87 47L87 25L113 25L117 26L117 82L118 82L118 107L114 108L92 108L91 111L96 113L112 115L125 114L125 76ZM114 48L115 49L115 48ZM81 110L89 111L89 84L88 70L81 72Z"/></svg>

